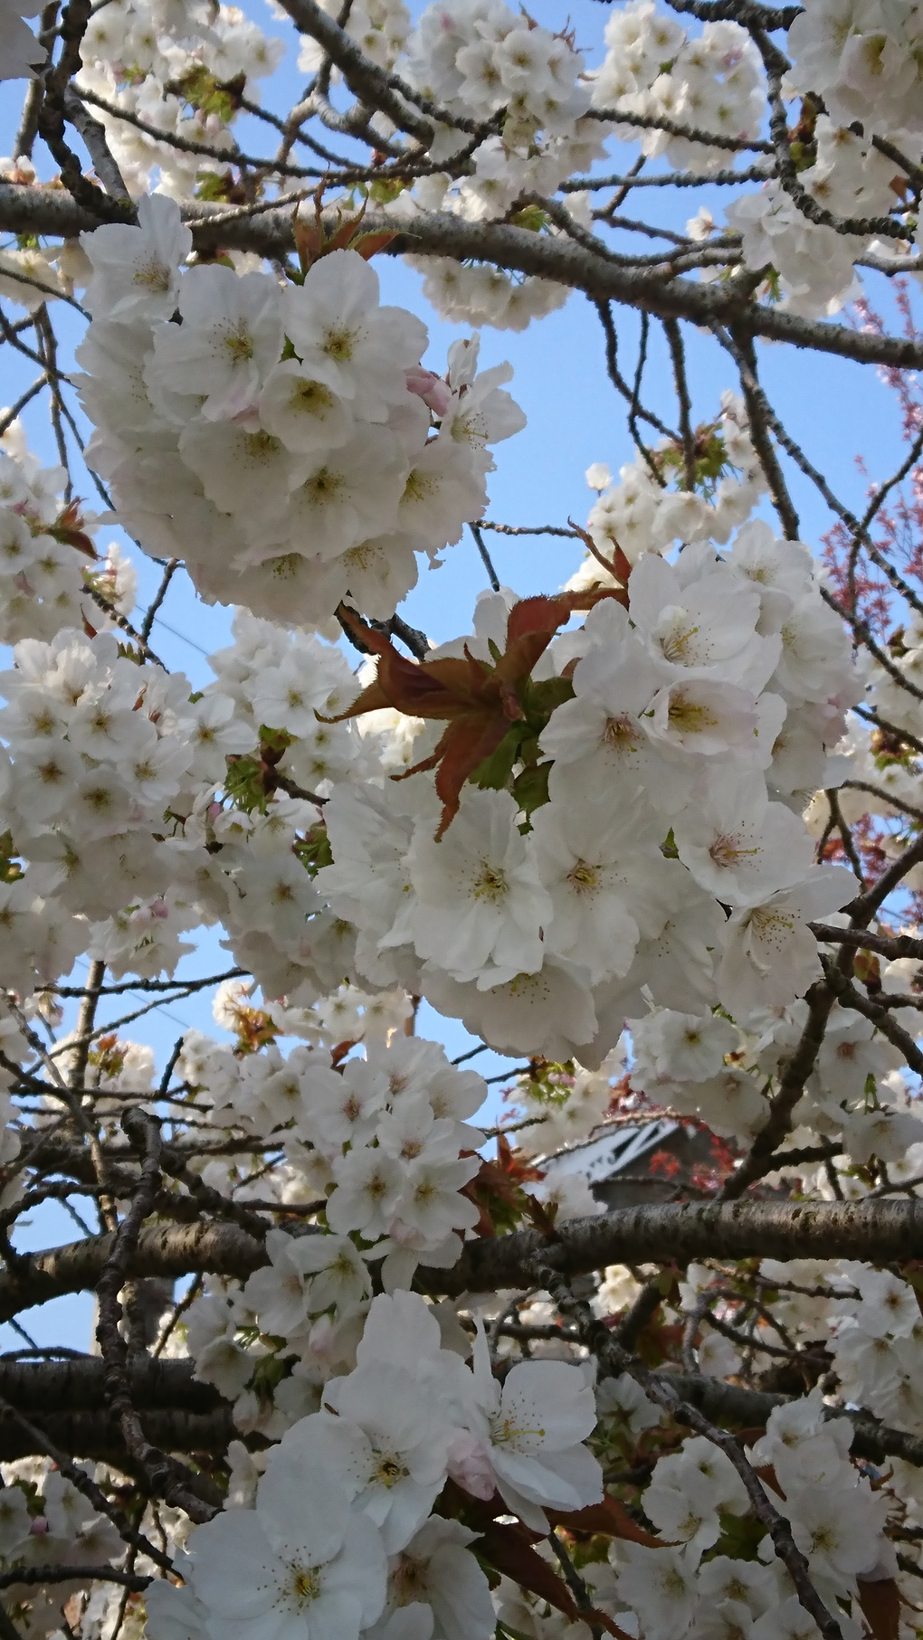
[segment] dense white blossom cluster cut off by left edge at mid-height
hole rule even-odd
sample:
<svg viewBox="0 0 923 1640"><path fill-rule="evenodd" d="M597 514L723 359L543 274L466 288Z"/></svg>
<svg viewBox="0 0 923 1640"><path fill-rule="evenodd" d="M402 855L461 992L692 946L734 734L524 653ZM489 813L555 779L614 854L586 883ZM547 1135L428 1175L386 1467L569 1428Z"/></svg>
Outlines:
<svg viewBox="0 0 923 1640"><path fill-rule="evenodd" d="M126 918L144 946L171 891L152 833L190 777L197 713L182 674L139 669L108 633L23 640L15 659L0 715L13 748L0 797L3 982L28 995L93 938L107 941L102 917Z"/></svg>

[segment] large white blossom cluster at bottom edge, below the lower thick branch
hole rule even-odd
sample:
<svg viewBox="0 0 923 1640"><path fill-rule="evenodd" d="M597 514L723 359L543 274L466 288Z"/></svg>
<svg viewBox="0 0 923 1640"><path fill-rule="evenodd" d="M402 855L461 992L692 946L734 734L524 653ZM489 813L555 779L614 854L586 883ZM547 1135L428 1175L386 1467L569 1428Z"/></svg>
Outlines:
<svg viewBox="0 0 923 1640"><path fill-rule="evenodd" d="M307 1241L295 1248L308 1302L328 1309L361 1291L352 1243L320 1238L308 1256L318 1238ZM330 1263L325 1241L336 1241ZM484 1330L471 1368L457 1322L456 1333L446 1346L413 1292L372 1301L352 1369L326 1383L320 1409L292 1424L259 1478L251 1466L249 1496L190 1537L184 1588L148 1594L152 1640L180 1627L215 1640L231 1622L318 1640L489 1640L497 1617L469 1548L477 1533L433 1504L451 1478L471 1499L498 1491L546 1532L544 1509L598 1502L602 1469L584 1445L595 1404L582 1369L562 1361L521 1363L500 1389Z"/></svg>

